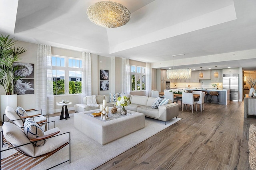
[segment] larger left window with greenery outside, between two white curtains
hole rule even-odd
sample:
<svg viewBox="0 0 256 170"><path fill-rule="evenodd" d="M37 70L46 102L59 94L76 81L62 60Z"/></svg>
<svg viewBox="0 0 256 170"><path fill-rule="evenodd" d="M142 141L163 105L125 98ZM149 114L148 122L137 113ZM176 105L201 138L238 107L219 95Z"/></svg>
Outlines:
<svg viewBox="0 0 256 170"><path fill-rule="evenodd" d="M52 56L53 94L78 94L82 89L82 60Z"/></svg>

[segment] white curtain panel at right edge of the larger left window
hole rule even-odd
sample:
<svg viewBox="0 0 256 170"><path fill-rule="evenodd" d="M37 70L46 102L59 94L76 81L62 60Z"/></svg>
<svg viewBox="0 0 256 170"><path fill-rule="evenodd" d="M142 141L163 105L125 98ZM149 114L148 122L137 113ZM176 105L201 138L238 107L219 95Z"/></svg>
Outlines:
<svg viewBox="0 0 256 170"><path fill-rule="evenodd" d="M92 66L91 53L82 52L82 95L83 98L92 95Z"/></svg>

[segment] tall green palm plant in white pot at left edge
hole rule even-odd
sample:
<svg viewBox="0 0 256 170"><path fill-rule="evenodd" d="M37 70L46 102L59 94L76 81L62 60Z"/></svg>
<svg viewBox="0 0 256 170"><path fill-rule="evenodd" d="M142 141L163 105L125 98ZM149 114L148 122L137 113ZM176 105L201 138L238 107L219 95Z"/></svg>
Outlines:
<svg viewBox="0 0 256 170"><path fill-rule="evenodd" d="M6 106L17 107L17 95L13 95L13 85L23 78L22 74L14 74L22 66L14 66L14 62L20 61L20 54L26 49L15 47L16 41L9 39L10 35L0 36L0 85L3 86L6 95L1 95L1 118ZM16 109L15 107L15 109Z"/></svg>

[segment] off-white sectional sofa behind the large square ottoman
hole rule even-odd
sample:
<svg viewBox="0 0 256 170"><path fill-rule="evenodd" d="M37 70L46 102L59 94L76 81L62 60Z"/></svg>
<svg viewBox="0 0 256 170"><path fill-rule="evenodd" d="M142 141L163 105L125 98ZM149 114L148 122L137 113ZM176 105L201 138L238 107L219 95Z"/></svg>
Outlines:
<svg viewBox="0 0 256 170"><path fill-rule="evenodd" d="M116 102L109 102L110 101L109 95L99 95L99 96L96 96L97 104L99 104L98 108L87 106L86 97L84 97L84 103L76 104L74 106L74 110L76 112L82 112L82 111L100 109L100 104L103 103L103 99L106 99L106 105L109 107L116 105ZM151 106L155 100L156 98L131 95L130 96L131 104L128 105L126 108L131 111L143 113L147 117L151 117L151 118L162 120L162 121L169 121L174 117L177 118L179 114L178 104L172 103L172 101L169 100L168 104L159 106L157 109L152 109Z"/></svg>

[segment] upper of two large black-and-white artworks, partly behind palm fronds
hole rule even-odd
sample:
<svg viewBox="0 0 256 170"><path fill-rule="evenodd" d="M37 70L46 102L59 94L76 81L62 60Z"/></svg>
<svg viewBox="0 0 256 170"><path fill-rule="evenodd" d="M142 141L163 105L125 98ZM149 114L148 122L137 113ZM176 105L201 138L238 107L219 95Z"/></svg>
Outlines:
<svg viewBox="0 0 256 170"><path fill-rule="evenodd" d="M34 64L31 63L13 63L14 66L22 66L21 69L14 72L15 75L24 76L23 78L34 78Z"/></svg>

